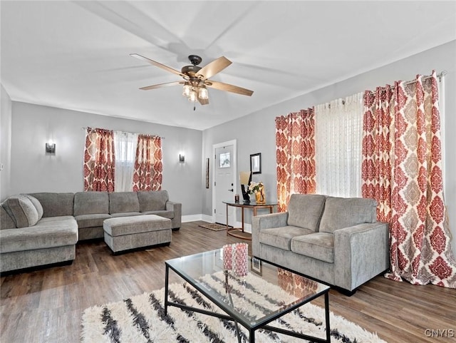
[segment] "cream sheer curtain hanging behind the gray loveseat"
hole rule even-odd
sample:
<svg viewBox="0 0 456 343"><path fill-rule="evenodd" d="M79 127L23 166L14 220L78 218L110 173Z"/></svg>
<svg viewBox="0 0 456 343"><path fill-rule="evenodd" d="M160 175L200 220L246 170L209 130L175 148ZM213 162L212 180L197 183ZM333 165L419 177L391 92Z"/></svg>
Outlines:
<svg viewBox="0 0 456 343"><path fill-rule="evenodd" d="M316 193L361 197L363 93L315 106Z"/></svg>

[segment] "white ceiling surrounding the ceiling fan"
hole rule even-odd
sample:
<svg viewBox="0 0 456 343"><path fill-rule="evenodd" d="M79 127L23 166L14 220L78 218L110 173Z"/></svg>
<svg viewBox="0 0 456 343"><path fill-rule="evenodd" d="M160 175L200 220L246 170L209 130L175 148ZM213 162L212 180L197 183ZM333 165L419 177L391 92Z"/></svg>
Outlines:
<svg viewBox="0 0 456 343"><path fill-rule="evenodd" d="M1 1L1 83L13 101L204 130L456 39L456 1ZM225 56L209 105L180 70Z"/></svg>

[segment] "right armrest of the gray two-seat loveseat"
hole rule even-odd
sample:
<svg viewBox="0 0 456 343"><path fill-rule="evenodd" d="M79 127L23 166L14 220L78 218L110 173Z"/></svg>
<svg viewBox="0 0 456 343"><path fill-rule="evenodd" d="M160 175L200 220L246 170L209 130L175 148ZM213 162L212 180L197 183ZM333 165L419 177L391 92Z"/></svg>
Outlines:
<svg viewBox="0 0 456 343"><path fill-rule="evenodd" d="M374 222L334 231L334 283L355 290L389 268L388 223Z"/></svg>

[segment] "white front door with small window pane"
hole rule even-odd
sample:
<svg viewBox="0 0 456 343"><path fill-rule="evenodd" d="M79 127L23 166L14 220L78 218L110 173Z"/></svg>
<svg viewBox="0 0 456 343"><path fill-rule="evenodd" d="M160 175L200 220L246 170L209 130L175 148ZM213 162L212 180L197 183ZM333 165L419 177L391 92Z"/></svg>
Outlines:
<svg viewBox="0 0 456 343"><path fill-rule="evenodd" d="M233 145L215 148L215 222L227 224L227 205L224 201L234 201L234 153ZM228 208L228 225L233 225L234 208Z"/></svg>

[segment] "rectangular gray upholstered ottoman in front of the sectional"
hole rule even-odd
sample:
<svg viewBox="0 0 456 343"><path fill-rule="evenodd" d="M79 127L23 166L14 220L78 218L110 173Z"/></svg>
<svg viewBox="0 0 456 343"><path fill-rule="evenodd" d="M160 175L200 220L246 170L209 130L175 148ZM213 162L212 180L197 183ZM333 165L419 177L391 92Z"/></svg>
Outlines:
<svg viewBox="0 0 456 343"><path fill-rule="evenodd" d="M149 247L150 245L170 244L171 220L159 215L135 215L103 220L105 242L113 250Z"/></svg>

